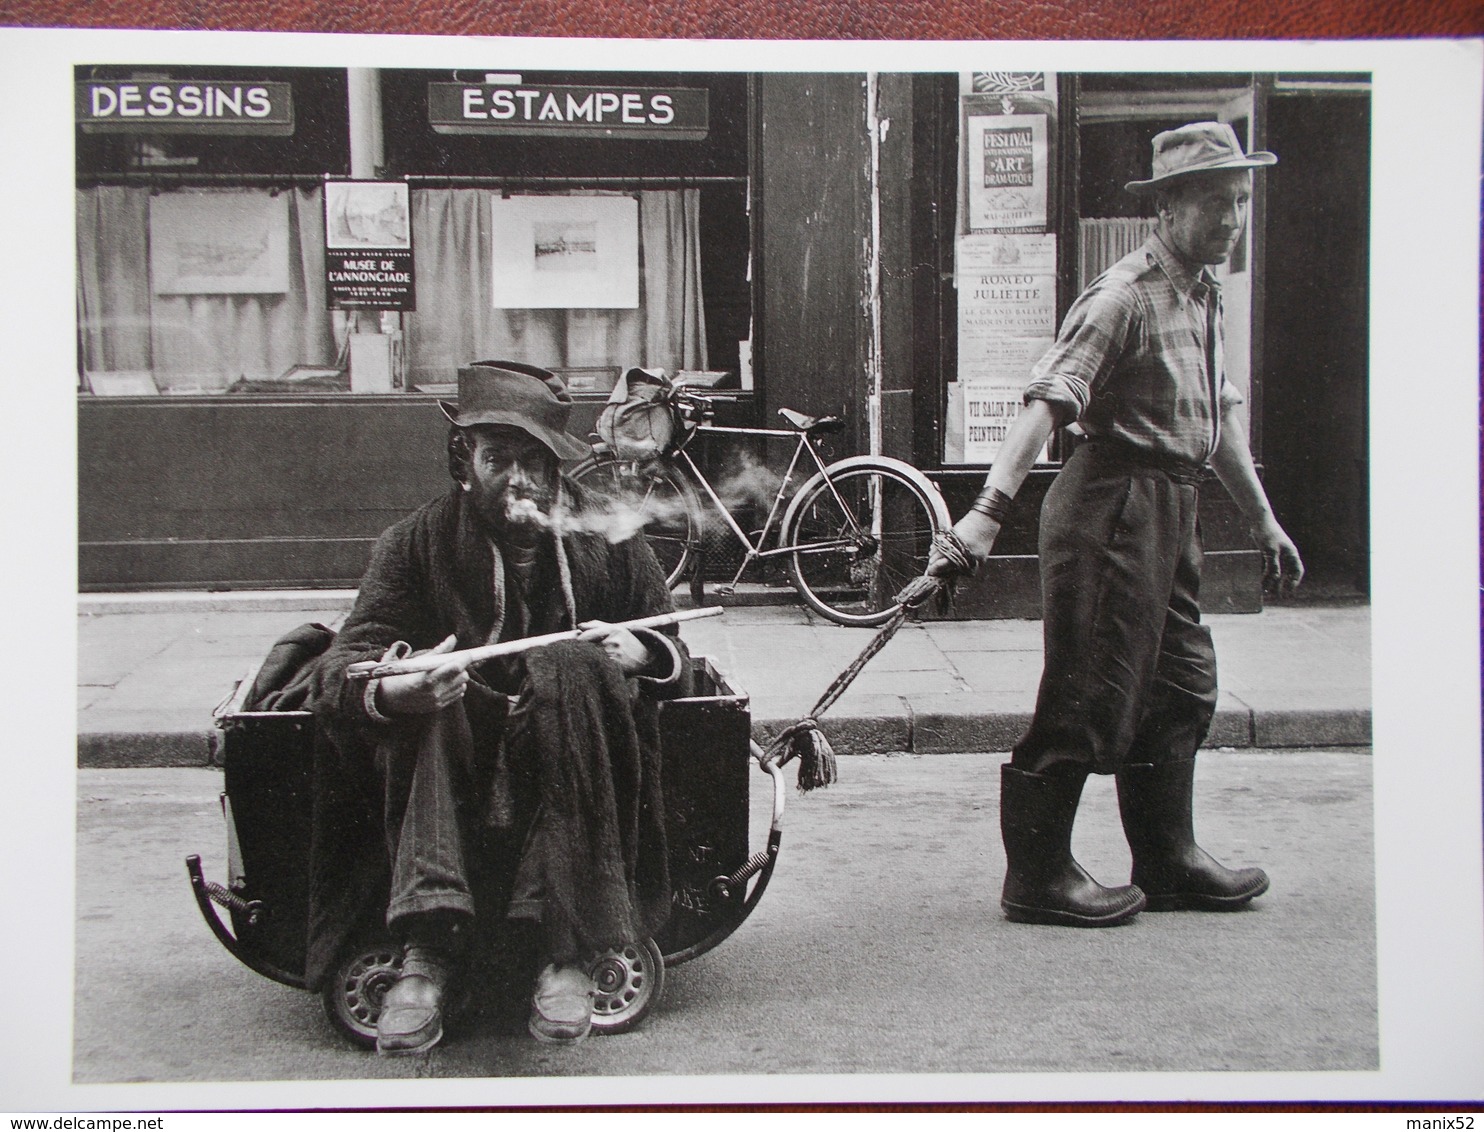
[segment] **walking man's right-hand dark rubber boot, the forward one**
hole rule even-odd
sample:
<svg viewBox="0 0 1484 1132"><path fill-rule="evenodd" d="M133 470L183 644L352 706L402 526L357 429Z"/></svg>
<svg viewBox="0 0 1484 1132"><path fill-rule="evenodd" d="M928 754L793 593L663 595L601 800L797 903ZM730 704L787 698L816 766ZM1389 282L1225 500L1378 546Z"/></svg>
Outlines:
<svg viewBox="0 0 1484 1132"><path fill-rule="evenodd" d="M1196 844L1196 761L1134 763L1117 773L1117 804L1134 853L1132 881L1149 911L1224 912L1267 892L1260 868L1229 869Z"/></svg>

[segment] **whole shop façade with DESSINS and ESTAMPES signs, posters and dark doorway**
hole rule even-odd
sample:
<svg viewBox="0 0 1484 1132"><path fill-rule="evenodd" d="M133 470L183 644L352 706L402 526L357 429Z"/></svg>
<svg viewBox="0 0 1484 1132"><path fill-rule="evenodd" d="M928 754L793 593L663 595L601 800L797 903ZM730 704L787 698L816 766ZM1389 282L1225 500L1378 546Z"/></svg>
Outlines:
<svg viewBox="0 0 1484 1132"><path fill-rule="evenodd" d="M1227 371L1281 518L1364 592L1364 76L515 64L79 70L83 589L355 585L444 490L436 402L481 358L562 372L579 435L632 365L724 392L723 423L840 414L833 455L905 458L959 515L1057 320L1143 239L1119 187L1149 139L1220 117L1281 157ZM960 616L1036 614L1067 444ZM1257 608L1235 509L1202 507L1208 608Z"/></svg>

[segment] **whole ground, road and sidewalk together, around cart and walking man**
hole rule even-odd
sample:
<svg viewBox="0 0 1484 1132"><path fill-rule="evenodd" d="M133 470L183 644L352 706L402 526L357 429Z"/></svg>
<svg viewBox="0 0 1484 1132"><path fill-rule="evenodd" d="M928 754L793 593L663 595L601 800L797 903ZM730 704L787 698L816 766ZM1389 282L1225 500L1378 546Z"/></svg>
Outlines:
<svg viewBox="0 0 1484 1132"><path fill-rule="evenodd" d="M1101 932L1006 921L999 764L1034 703L1040 625L910 623L824 715L840 779L788 791L757 909L668 970L641 1028L552 1049L506 1001L427 1055L378 1059L313 996L237 963L202 923L184 868L197 853L226 880L212 708L278 636L337 625L352 596L79 599L74 1085L301 1082L343 1105L632 1101L632 1080L672 1099L795 1087L1015 1099L1046 1087L1037 1074L1070 1073L1083 1076L1061 1095L1178 1099L1195 1095L1192 1079L1152 1074L1276 1071L1294 1085L1266 1077L1266 1096L1312 1099L1322 1092L1294 1071L1379 1064L1364 605L1209 619L1223 693L1198 829L1221 859L1272 874L1242 912L1144 914ZM803 715L873 632L766 604L684 635L751 697L761 737ZM754 849L770 801L754 773ZM1089 782L1074 849L1101 880L1126 878L1112 780ZM1242 1095L1239 1079L1211 1080L1205 1095Z"/></svg>

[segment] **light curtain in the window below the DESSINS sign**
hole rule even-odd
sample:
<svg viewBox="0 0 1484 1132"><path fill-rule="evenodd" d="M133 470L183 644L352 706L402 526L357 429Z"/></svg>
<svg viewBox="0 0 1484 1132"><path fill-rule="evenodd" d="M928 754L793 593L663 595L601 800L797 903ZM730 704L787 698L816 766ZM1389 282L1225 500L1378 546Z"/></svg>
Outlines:
<svg viewBox="0 0 1484 1132"><path fill-rule="evenodd" d="M83 369L150 369L162 392L220 392L239 378L276 378L295 365L332 363L321 190L280 191L288 197L286 292L156 295L148 260L150 190L79 190Z"/></svg>

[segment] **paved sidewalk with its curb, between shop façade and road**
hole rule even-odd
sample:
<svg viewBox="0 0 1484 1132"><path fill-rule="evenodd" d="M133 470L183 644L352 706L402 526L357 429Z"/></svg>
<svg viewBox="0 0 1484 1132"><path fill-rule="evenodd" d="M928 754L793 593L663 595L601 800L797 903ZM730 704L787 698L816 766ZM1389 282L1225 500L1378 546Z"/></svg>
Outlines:
<svg viewBox="0 0 1484 1132"><path fill-rule="evenodd" d="M331 628L350 590L82 595L77 763L212 761L212 708L285 632ZM788 596L779 596L791 602ZM1370 608L1273 607L1206 619L1221 665L1212 748L1371 742ZM729 607L686 625L751 696L758 737L795 721L871 639L801 604ZM908 623L824 717L837 754L1008 751L1030 720L1040 622Z"/></svg>

